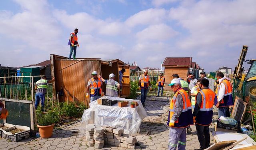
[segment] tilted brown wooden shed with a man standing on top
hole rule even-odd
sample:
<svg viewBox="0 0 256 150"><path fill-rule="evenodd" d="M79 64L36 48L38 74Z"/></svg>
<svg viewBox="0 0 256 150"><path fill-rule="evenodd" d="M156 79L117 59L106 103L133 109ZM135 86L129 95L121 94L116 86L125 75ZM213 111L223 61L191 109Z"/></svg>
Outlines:
<svg viewBox="0 0 256 150"><path fill-rule="evenodd" d="M67 57L51 54L50 62L51 74L55 78L52 82L54 97L57 98L56 93L63 91L63 96L59 96L60 102L79 101L89 106L90 100L85 97L87 83L93 71L101 74L100 58L68 60Z"/></svg>

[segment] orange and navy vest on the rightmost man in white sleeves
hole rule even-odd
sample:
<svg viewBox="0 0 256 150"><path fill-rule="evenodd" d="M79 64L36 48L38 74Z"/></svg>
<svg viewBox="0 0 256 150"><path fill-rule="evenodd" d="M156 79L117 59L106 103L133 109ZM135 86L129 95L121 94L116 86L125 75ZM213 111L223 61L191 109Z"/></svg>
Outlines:
<svg viewBox="0 0 256 150"><path fill-rule="evenodd" d="M227 79L222 80L222 82L220 82L218 84L216 91L215 91L216 99L214 100L214 105L216 105L218 102L220 84L222 84L222 83L225 86L225 94L224 94L224 97L222 98L222 100L220 101L219 107L233 106L234 102L233 102L233 97L232 97L232 85Z"/></svg>

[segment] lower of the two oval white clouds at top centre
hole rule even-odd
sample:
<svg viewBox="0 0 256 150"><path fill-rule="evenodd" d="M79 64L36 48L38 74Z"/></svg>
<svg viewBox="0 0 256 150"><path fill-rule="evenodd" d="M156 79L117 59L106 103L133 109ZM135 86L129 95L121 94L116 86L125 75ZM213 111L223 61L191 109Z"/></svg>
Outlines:
<svg viewBox="0 0 256 150"><path fill-rule="evenodd" d="M136 37L139 41L158 41L168 40L176 35L178 35L178 32L174 31L170 26L167 26L166 24L156 24L138 32Z"/></svg>

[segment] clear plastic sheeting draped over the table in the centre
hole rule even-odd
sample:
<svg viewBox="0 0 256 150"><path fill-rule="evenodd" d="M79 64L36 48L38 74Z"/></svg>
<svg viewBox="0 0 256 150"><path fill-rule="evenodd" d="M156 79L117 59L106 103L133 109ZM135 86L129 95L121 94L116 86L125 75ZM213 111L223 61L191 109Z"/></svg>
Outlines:
<svg viewBox="0 0 256 150"><path fill-rule="evenodd" d="M82 116L82 129L87 124L95 124L101 126L110 126L114 128L123 128L124 134L135 135L140 132L140 124L147 116L146 110L143 108L140 100L125 99L119 97L103 96L101 99L124 100L129 104L126 107L98 105L97 100L90 103L90 108L84 110ZM137 102L139 106L130 107L130 102Z"/></svg>

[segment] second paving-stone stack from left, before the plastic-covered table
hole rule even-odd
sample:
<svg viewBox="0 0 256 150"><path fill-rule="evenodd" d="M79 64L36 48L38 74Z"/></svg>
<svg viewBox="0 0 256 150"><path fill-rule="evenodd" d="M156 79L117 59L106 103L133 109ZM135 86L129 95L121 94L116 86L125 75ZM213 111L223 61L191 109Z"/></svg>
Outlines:
<svg viewBox="0 0 256 150"><path fill-rule="evenodd" d="M95 140L94 147L95 148L103 148L104 147L104 131L105 128L99 127L94 129L93 138Z"/></svg>

